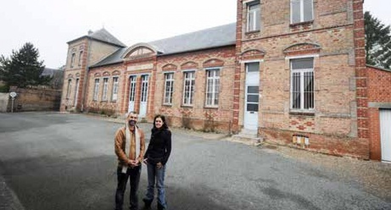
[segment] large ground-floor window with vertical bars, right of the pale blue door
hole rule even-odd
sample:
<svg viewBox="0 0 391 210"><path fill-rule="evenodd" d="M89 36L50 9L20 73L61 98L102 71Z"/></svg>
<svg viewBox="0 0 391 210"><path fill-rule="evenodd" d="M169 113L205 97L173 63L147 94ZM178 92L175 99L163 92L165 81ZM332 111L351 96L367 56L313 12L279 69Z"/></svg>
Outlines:
<svg viewBox="0 0 391 210"><path fill-rule="evenodd" d="M314 58L291 60L291 108L314 109Z"/></svg>

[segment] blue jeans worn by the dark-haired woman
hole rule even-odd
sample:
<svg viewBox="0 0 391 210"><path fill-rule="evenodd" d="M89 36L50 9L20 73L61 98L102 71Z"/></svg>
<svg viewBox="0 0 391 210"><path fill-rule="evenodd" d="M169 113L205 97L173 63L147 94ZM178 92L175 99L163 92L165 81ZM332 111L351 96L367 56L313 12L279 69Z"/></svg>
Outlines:
<svg viewBox="0 0 391 210"><path fill-rule="evenodd" d="M145 195L146 200L152 202L154 198L154 188L155 188L155 179L156 179L156 187L158 188L158 204L162 207L167 208L165 189L164 189L164 174L166 170L166 166L158 169L156 164L147 163L148 169L148 187L147 194Z"/></svg>

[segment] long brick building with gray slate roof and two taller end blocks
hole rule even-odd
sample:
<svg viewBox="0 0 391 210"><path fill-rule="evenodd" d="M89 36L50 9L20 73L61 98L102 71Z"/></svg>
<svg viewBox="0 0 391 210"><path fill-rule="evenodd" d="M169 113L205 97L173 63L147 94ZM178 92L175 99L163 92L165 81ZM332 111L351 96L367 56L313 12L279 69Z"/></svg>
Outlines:
<svg viewBox="0 0 391 210"><path fill-rule="evenodd" d="M374 132L391 100L372 98L390 83L371 84L389 72L365 65L362 3L238 0L236 23L130 47L90 32L68 42L61 110L161 113L171 126L390 160Z"/></svg>

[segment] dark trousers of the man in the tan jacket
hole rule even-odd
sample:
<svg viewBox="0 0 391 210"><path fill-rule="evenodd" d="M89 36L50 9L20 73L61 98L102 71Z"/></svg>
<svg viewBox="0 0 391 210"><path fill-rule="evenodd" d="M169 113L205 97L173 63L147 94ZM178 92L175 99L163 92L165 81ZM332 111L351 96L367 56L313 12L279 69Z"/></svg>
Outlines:
<svg viewBox="0 0 391 210"><path fill-rule="evenodd" d="M138 209L137 189L140 182L141 166L129 167L126 174L122 173L122 167L117 169L118 186L115 192L115 210L122 210L127 179L130 178L130 209Z"/></svg>

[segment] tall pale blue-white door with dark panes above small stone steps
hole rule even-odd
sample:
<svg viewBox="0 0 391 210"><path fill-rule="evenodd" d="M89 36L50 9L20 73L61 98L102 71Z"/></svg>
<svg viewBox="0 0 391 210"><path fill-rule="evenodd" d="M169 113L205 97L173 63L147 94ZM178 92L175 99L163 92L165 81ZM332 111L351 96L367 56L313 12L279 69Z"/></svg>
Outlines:
<svg viewBox="0 0 391 210"><path fill-rule="evenodd" d="M246 130L258 130L259 62L246 64L245 88L243 126Z"/></svg>

